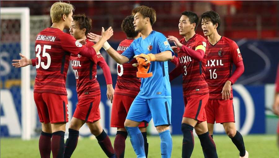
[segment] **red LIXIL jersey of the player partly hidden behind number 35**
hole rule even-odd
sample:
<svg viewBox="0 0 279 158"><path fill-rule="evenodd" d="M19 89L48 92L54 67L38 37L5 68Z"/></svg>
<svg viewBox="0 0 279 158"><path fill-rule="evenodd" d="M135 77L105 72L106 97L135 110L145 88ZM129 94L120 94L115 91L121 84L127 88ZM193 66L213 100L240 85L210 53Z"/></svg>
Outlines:
<svg viewBox="0 0 279 158"><path fill-rule="evenodd" d="M93 42L86 39L86 47L90 48ZM100 51L93 58L81 55L71 55L73 72L77 81L78 99L94 97L101 94L100 85L97 81L97 63L104 60Z"/></svg>

